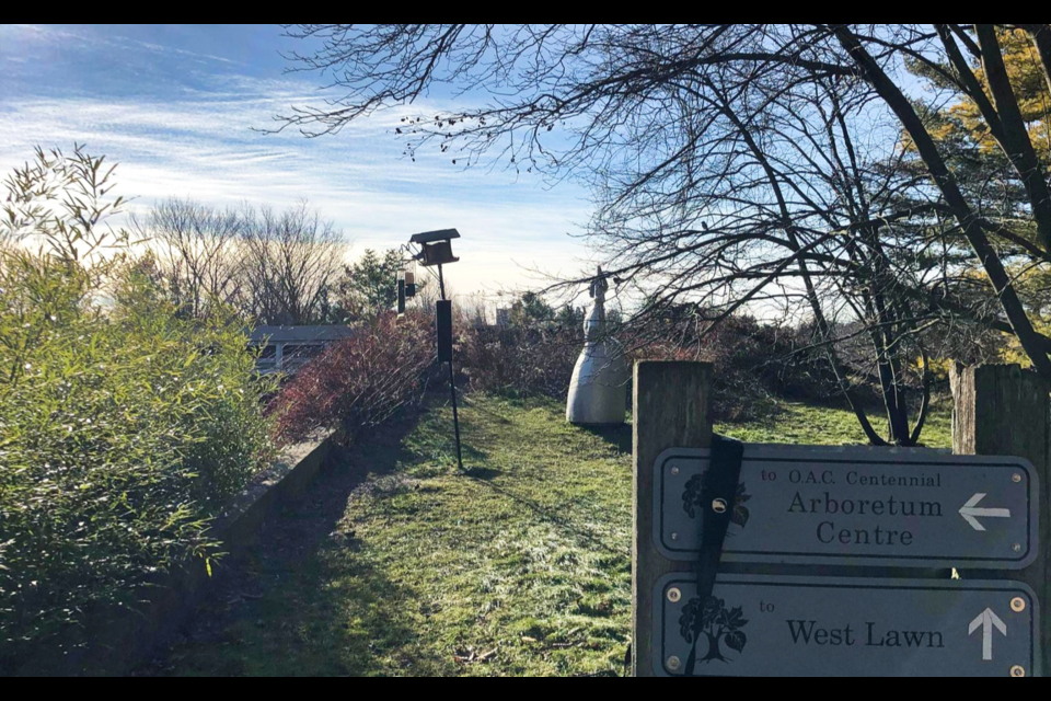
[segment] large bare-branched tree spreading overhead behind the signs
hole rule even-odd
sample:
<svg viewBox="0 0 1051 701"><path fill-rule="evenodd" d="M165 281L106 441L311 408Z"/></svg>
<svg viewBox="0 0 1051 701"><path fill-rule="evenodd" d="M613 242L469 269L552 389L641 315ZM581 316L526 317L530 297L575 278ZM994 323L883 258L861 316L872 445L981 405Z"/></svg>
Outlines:
<svg viewBox="0 0 1051 701"><path fill-rule="evenodd" d="M1017 26L1049 55L1048 25ZM922 409L909 422L906 359L926 358L935 326L1012 334L1051 378L1051 340L1033 327L1012 273L1051 265L1048 174L997 25L370 24L289 34L314 47L292 67L331 71L340 93L284 126L338 131L441 84L481 95L482 106L406 118L396 134L406 152L435 141L455 149L461 166L488 157L582 177L594 187L591 233L607 269L649 300L640 318L684 302L715 310L705 323L747 306L807 314L874 443L883 439L836 352L855 324L871 344L893 443L910 445L922 429ZM916 65L979 105L1021 206L1006 211L996 193L961 185L910 94Z"/></svg>

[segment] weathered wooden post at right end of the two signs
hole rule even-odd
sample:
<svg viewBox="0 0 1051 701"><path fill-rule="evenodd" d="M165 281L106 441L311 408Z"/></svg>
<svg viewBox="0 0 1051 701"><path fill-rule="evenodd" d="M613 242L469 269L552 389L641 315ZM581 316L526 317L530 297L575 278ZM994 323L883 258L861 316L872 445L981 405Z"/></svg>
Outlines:
<svg viewBox="0 0 1051 701"><path fill-rule="evenodd" d="M963 578L1015 579L1037 593L1041 606L1051 606L1051 386L1017 365L985 365L950 371L952 452L1014 456L1029 460L1040 480L1040 532L1037 561L1021 572L967 572ZM1051 675L1051 616L1041 617L1043 674Z"/></svg>

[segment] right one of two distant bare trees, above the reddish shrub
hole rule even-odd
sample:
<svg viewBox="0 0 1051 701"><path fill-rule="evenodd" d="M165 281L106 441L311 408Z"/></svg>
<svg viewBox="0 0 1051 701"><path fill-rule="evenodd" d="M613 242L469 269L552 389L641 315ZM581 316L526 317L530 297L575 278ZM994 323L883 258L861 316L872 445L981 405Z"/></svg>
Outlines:
<svg viewBox="0 0 1051 701"><path fill-rule="evenodd" d="M326 320L343 269L343 233L307 203L276 212L242 212L242 299L258 323L310 324Z"/></svg>

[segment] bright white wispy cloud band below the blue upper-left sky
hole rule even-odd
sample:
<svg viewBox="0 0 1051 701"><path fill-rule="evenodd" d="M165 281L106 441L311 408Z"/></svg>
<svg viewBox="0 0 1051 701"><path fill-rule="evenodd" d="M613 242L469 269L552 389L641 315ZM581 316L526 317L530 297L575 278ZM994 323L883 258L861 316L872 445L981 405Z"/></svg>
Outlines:
<svg viewBox="0 0 1051 701"><path fill-rule="evenodd" d="M290 81L244 76L224 76L217 88L164 102L73 96L0 103L0 171L30 158L36 145L79 142L120 163L119 192L135 197L135 207L169 196L275 207L307 198L357 251L458 227L462 262L450 278L461 294L535 284L524 267L567 275L586 267L588 252L566 235L588 218L578 188L548 191L535 179L499 170L463 171L432 152L419 153L415 163L404 159L391 131L406 111L381 112L338 136L261 134L253 127L268 127L277 112L314 97Z"/></svg>

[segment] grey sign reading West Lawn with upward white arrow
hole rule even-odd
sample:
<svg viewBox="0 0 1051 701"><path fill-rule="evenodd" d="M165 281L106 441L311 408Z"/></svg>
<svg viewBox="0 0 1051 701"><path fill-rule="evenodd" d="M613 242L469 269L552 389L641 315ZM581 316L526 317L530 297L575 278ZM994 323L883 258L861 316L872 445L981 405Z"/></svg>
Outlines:
<svg viewBox="0 0 1051 701"><path fill-rule="evenodd" d="M654 594L667 677L1039 676L1039 611L1013 582L692 575Z"/></svg>

